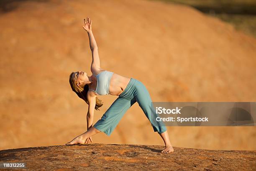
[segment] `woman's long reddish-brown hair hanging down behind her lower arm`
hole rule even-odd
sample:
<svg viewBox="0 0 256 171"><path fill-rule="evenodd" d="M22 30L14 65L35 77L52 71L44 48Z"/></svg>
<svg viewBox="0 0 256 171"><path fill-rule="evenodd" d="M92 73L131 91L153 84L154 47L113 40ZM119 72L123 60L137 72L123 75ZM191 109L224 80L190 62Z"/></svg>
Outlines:
<svg viewBox="0 0 256 171"><path fill-rule="evenodd" d="M80 97L82 100L84 100L88 105L89 102L87 100L87 92L89 90L89 86L87 84L78 86L76 84L76 82L72 79L72 75L74 74L74 72L72 72L69 75L69 84L73 90L73 92L75 92L77 94L78 97ZM102 100L98 99L98 97L96 97L96 105L95 105L95 109L96 110L100 110L99 107L102 107L103 102Z"/></svg>

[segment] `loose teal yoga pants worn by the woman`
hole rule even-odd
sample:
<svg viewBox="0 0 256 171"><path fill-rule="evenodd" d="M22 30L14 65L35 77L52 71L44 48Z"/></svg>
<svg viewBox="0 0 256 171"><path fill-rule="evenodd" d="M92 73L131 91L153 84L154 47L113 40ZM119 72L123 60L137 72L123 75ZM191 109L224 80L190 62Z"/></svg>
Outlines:
<svg viewBox="0 0 256 171"><path fill-rule="evenodd" d="M103 114L100 120L95 123L94 127L107 135L110 135L125 112L135 103L143 110L144 114L150 121L154 132L164 133L165 126L156 121L157 114L151 106L151 97L146 87L138 80L131 78L124 91L113 102L108 110ZM135 116L136 117L136 116Z"/></svg>

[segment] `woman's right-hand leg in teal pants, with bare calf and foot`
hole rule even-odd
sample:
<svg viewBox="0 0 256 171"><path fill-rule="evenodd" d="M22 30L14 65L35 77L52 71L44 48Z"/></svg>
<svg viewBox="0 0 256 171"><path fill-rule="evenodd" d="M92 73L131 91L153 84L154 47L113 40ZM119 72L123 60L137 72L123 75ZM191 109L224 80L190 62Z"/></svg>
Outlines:
<svg viewBox="0 0 256 171"><path fill-rule="evenodd" d="M165 149L161 151L161 153L169 153L173 152L173 148L171 145L171 142L169 140L169 135L167 133L166 127L163 125L163 123L156 122L157 114L153 107L151 106L152 100L150 97L150 94L143 83L137 80L136 83L136 101L138 102L139 106L143 110L144 114L148 118L148 120L151 122L151 125L153 126L154 131L158 132L161 138L164 140Z"/></svg>

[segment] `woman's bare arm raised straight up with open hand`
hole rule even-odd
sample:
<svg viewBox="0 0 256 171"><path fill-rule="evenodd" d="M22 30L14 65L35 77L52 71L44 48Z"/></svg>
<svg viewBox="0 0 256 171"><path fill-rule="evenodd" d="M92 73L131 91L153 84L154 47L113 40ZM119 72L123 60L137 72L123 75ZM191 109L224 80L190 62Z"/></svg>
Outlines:
<svg viewBox="0 0 256 171"><path fill-rule="evenodd" d="M82 27L87 31L89 36L90 49L92 51L91 71L92 73L97 73L97 71L100 70L100 57L98 53L98 46L92 33L92 20L89 17L87 17L87 20L84 19L84 26Z"/></svg>

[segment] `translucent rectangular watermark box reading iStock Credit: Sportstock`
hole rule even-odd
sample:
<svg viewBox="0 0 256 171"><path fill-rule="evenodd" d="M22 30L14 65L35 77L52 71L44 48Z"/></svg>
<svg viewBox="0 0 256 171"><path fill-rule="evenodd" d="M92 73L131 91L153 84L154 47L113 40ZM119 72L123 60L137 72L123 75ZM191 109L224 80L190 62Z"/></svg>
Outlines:
<svg viewBox="0 0 256 171"><path fill-rule="evenodd" d="M155 126L254 126L256 102L152 102Z"/></svg>

